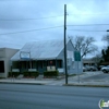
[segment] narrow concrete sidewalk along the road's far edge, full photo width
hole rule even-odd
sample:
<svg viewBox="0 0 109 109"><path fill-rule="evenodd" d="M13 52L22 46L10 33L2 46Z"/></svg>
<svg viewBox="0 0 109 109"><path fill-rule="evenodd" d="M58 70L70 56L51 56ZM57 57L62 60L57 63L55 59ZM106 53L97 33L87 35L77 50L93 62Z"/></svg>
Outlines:
<svg viewBox="0 0 109 109"><path fill-rule="evenodd" d="M108 82L71 82L71 81L69 81L68 84L64 84L65 83L64 80L61 80L61 81L55 81L55 80L45 80L45 81L37 81L37 80L0 80L0 83L3 83L3 84L109 87L109 81Z"/></svg>

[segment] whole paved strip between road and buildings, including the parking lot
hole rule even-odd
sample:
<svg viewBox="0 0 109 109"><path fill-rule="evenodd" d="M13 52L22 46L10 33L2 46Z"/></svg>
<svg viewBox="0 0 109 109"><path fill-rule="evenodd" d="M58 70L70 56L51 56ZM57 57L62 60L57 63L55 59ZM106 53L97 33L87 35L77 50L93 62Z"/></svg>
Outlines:
<svg viewBox="0 0 109 109"><path fill-rule="evenodd" d="M0 83L7 84L34 84L34 85L69 85L69 86L104 86L109 87L109 74L104 74L101 71L84 72L81 75L68 77L68 84L65 84L65 77L59 76L58 78L44 78L39 76L37 78L2 78Z"/></svg>

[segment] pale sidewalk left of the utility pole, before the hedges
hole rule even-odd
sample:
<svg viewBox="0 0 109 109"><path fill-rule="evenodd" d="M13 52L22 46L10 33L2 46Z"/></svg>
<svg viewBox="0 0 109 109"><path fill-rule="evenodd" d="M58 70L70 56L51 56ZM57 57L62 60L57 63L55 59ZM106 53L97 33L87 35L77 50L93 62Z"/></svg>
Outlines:
<svg viewBox="0 0 109 109"><path fill-rule="evenodd" d="M0 83L3 84L33 84L33 85L48 85L51 83L60 82L64 80L64 76L59 76L57 78L44 78L44 76L39 75L37 78L1 78Z"/></svg>

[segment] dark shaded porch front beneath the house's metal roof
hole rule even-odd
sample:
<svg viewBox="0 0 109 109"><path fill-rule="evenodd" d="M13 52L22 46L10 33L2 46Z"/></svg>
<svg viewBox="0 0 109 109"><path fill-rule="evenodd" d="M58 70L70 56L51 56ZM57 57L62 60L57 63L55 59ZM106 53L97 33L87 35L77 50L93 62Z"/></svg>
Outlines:
<svg viewBox="0 0 109 109"><path fill-rule="evenodd" d="M29 69L34 69L35 71L38 71L39 73L44 73L47 71L48 66L55 66L57 68L62 68L61 65L62 60L23 60L23 61L13 61L12 62L12 70L20 70L20 72L28 71Z"/></svg>

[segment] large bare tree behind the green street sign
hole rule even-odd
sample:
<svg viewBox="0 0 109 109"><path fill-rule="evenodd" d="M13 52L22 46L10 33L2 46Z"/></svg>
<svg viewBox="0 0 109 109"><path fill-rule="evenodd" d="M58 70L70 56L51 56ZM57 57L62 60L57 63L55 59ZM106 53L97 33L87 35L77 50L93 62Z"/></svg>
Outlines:
<svg viewBox="0 0 109 109"><path fill-rule="evenodd" d="M85 36L75 36L70 37L72 39L72 44L74 48L81 51L81 57L87 56L89 53L94 53L98 50L97 46L94 45L94 37L85 37Z"/></svg>

